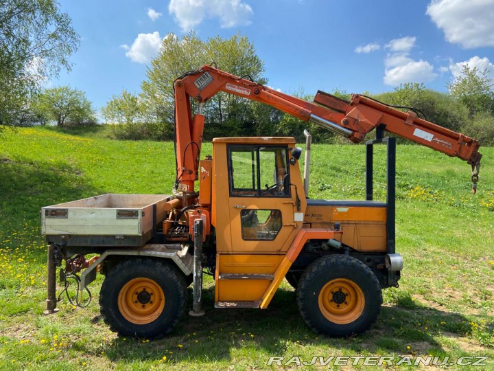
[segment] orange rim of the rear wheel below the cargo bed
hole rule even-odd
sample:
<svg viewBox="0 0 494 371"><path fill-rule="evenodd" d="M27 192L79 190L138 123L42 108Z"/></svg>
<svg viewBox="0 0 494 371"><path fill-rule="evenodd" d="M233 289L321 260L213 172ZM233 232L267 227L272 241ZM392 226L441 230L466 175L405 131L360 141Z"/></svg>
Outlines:
<svg viewBox="0 0 494 371"><path fill-rule="evenodd" d="M154 280L134 278L121 288L118 307L128 322L149 324L163 313L165 293Z"/></svg>

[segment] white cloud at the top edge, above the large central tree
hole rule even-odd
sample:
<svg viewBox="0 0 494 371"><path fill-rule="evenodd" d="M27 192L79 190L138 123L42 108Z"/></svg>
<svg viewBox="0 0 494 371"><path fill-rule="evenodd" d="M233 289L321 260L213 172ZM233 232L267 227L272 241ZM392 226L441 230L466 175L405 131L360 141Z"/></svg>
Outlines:
<svg viewBox="0 0 494 371"><path fill-rule="evenodd" d="M170 0L168 11L183 31L196 27L204 18L219 18L222 28L250 25L254 14L241 0Z"/></svg>

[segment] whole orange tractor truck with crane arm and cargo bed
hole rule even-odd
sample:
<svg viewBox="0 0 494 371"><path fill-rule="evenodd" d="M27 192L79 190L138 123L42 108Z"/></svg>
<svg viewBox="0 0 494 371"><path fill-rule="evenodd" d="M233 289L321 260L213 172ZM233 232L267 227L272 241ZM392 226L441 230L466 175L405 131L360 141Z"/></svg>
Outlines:
<svg viewBox="0 0 494 371"><path fill-rule="evenodd" d="M286 278L313 330L362 333L379 315L381 290L398 286L403 269L395 251L395 138L384 132L464 159L474 189L478 181L482 155L475 139L363 95L346 101L319 91L307 102L207 65L177 78L174 90L173 194L106 194L43 207L47 313L56 311L56 267L65 260L60 277L66 286L75 280L78 293L97 271L105 275L99 304L112 330L160 337L183 314L192 283L189 314L204 314L204 267L215 280L215 308L266 309ZM213 156L200 159L202 104L219 91L269 104L352 142L377 129L377 138L366 142L366 200L308 198L309 140L304 177L292 137L216 138ZM191 100L198 102L195 115ZM377 144L388 146L386 202L373 201ZM89 254L98 255L87 260ZM82 305L80 297L75 302Z"/></svg>

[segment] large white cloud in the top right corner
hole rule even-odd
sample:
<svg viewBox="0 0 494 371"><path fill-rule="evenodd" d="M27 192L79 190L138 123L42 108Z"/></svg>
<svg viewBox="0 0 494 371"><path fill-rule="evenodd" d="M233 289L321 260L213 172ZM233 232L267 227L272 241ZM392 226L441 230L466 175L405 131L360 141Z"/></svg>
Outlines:
<svg viewBox="0 0 494 371"><path fill-rule="evenodd" d="M449 43L494 46L494 0L432 0L426 13Z"/></svg>

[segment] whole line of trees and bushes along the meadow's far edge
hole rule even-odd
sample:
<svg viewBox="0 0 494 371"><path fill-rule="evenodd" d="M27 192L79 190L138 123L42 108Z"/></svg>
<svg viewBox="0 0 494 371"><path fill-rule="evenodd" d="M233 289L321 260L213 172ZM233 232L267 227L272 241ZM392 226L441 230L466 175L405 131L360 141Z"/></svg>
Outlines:
<svg viewBox="0 0 494 371"><path fill-rule="evenodd" d="M151 61L141 91L123 90L99 111L86 94L71 87L41 89L43 80L70 69L69 57L79 37L67 14L54 0L0 0L0 130L2 126L30 126L56 122L80 126L100 121L112 124L118 139L172 140L174 133L173 82L205 63L237 76L268 84L263 60L247 36L216 36L206 41L194 32L168 34ZM392 91L370 94L381 102L418 109L423 118L460 131L483 145L494 144L494 89L487 71L464 66L447 86L447 93L423 84L403 84ZM345 91L332 91L349 98ZM311 95L296 93L311 100ZM192 110L197 108L192 102ZM302 122L265 104L228 93L217 93L204 106L204 139L224 136L294 136L303 141L307 128L314 142L335 139L332 133Z"/></svg>

